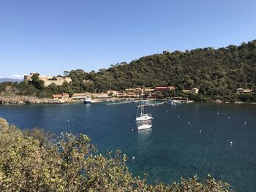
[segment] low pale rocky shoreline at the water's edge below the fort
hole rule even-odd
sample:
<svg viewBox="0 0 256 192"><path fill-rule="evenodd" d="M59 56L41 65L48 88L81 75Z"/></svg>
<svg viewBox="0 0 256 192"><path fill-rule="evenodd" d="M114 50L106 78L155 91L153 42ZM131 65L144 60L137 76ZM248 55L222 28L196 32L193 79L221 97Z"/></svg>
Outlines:
<svg viewBox="0 0 256 192"><path fill-rule="evenodd" d="M0 104L61 104L67 101L42 98L35 96L0 96Z"/></svg>

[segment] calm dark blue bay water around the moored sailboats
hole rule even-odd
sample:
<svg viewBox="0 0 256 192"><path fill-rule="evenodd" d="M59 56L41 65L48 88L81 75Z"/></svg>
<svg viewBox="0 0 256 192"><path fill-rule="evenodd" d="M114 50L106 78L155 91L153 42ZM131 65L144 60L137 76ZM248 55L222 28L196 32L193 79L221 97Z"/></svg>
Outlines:
<svg viewBox="0 0 256 192"><path fill-rule="evenodd" d="M0 117L19 128L87 134L102 153L121 149L130 171L148 173L151 183L210 173L236 191L256 191L255 105L165 104L146 109L154 117L151 129L132 131L135 105L0 106Z"/></svg>

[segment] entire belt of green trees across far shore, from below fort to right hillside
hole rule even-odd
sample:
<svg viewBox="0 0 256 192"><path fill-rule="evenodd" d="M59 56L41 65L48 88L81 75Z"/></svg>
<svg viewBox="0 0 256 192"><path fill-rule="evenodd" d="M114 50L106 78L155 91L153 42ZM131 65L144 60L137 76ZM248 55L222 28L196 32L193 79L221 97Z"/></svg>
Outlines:
<svg viewBox="0 0 256 192"><path fill-rule="evenodd" d="M99 69L99 72L78 69L66 71L64 76L71 77L72 84L44 88L37 82L5 82L0 84L0 92L6 93L9 88L9 92L15 94L50 97L62 92L72 96L73 93L173 85L176 91L172 96L182 94L182 89L197 87L199 94L189 95L190 99L255 102L256 94L233 93L237 88L256 90L256 40L219 49L206 47L148 55L129 64L122 62L109 69Z"/></svg>

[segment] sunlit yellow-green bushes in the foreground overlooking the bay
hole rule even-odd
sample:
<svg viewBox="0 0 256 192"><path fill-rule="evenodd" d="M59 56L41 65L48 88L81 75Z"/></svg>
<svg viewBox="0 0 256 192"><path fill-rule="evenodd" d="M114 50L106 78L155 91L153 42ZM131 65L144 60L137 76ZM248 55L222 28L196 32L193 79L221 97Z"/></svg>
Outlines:
<svg viewBox="0 0 256 192"><path fill-rule="evenodd" d="M0 118L0 191L231 191L212 177L148 185L146 178L132 176L120 151L101 155L83 134L53 138Z"/></svg>

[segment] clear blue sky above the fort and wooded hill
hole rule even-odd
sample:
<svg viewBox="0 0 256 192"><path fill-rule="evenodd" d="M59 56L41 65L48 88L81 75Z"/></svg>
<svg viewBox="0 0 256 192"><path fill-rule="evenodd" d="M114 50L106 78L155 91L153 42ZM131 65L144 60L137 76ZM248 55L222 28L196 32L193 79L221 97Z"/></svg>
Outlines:
<svg viewBox="0 0 256 192"><path fill-rule="evenodd" d="M0 77L256 39L255 0L0 0Z"/></svg>

